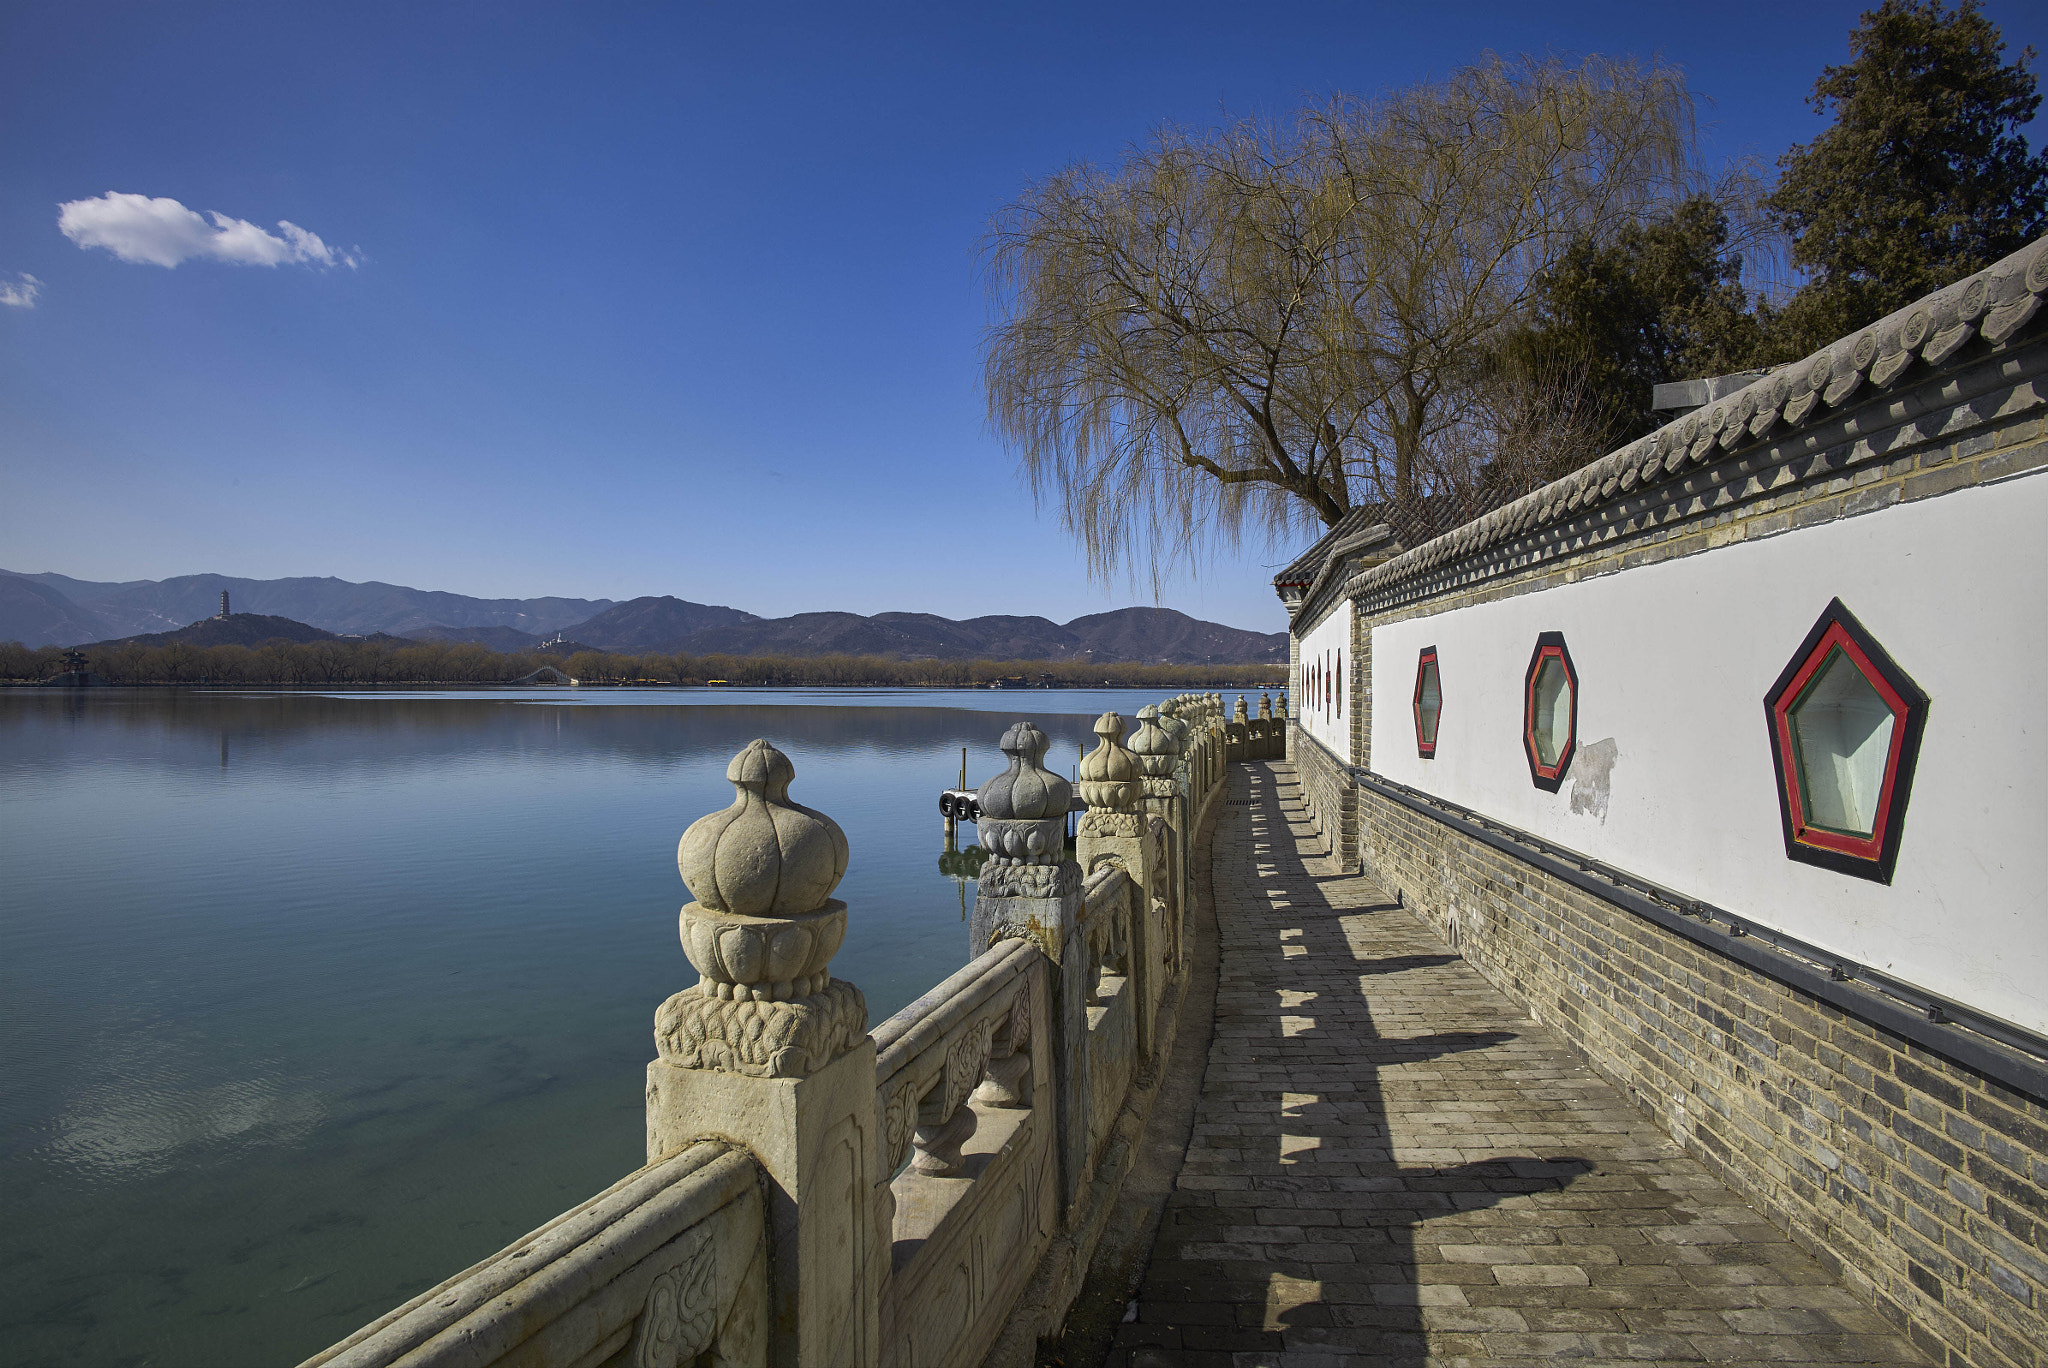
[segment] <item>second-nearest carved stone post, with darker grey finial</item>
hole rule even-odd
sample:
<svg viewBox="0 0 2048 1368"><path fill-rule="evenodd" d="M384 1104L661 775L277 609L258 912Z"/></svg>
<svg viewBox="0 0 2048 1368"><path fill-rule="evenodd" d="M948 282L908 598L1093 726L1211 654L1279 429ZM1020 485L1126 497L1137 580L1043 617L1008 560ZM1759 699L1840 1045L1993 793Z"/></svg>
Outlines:
<svg viewBox="0 0 2048 1368"><path fill-rule="evenodd" d="M1073 786L1044 768L1049 741L1030 723L1004 733L1010 768L981 784L977 840L981 866L969 948L1024 936L1053 960L1051 1061L1059 1106L1061 1208L1073 1210L1087 1182L1087 930L1081 926L1081 868L1067 858ZM963 1108L965 1110L965 1108Z"/></svg>

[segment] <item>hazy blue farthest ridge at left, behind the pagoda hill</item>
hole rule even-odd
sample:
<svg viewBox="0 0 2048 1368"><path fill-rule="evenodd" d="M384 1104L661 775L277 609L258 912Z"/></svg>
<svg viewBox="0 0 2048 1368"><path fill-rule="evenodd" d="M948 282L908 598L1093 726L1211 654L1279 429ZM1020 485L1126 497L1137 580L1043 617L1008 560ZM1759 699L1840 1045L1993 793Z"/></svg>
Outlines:
<svg viewBox="0 0 2048 1368"><path fill-rule="evenodd" d="M307 623L332 633L391 633L410 637L426 627L512 627L535 637L551 635L612 606L610 598L469 598L401 584L354 584L350 580L240 580L236 575L176 575L172 580L129 580L106 584L70 575L27 575L0 569L0 578L29 580L63 594L90 610L102 629L94 637L129 637L176 631L221 610L221 590L242 612L262 612ZM29 623L0 612L0 641L25 645L76 645L49 635L31 639ZM80 637L84 641L88 637Z"/></svg>

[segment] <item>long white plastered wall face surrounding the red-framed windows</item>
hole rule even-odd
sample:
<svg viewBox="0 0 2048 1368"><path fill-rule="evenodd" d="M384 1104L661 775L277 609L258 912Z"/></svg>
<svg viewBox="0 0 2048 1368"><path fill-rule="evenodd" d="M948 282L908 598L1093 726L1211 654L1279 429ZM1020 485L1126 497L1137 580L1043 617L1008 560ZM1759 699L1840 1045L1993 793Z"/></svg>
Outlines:
<svg viewBox="0 0 2048 1368"><path fill-rule="evenodd" d="M1888 887L1784 854L1763 694L1833 596L1931 698ZM1579 674L1559 793L1522 758L1540 631ZM1409 704L1425 645L1436 760ZM2048 475L1376 627L1372 664L1374 772L2048 1032Z"/></svg>

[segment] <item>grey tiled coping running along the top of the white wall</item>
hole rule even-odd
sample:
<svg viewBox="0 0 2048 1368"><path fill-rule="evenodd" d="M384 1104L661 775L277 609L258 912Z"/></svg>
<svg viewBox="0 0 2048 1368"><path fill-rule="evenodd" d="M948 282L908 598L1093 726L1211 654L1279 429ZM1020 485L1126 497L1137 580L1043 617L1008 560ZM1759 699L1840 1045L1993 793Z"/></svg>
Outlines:
<svg viewBox="0 0 2048 1368"><path fill-rule="evenodd" d="M1804 360L1778 367L1733 395L1686 414L1563 479L1358 571L1343 592L1364 596L1389 590L1509 537L1620 502L1636 489L1681 475L1688 467L1702 467L1720 455L1755 446L1774 430L1798 428L1817 414L1843 405L1866 385L1888 389L1917 362L1939 367L1972 338L1980 336L1993 346L2003 346L2036 315L2044 295L2048 295L2048 238L2038 238L2005 260L1837 338ZM1309 598L1313 594L1303 602Z"/></svg>

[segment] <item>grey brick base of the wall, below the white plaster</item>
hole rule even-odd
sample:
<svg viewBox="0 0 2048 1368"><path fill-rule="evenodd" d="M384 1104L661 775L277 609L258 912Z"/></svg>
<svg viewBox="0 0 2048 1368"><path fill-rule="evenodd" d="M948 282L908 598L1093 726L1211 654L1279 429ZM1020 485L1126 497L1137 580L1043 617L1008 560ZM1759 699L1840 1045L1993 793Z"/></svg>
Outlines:
<svg viewBox="0 0 2048 1368"><path fill-rule="evenodd" d="M2048 1106L1370 790L1409 911L1935 1362L2048 1364Z"/></svg>

